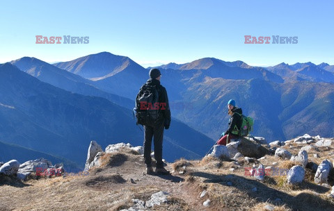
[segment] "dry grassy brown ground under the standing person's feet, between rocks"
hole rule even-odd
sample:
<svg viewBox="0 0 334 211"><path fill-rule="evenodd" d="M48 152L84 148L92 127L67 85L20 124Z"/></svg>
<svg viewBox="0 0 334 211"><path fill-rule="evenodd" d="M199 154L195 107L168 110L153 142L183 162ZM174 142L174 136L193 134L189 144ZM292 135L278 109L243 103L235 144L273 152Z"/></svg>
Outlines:
<svg viewBox="0 0 334 211"><path fill-rule="evenodd" d="M303 146L285 146L298 153ZM321 158L309 161L319 164L333 158L333 148L317 152ZM245 175L245 167L214 158L179 160L166 167L170 176L145 174L142 155L129 151L104 155L103 167L90 169L86 176L31 179L22 183L0 176L0 210L122 210L132 206L132 199L147 201L156 192L169 193L168 203L151 210L264 210L272 205L276 210L334 210L331 189L316 185L314 173L307 171L301 185L288 185L285 176L266 176L263 182ZM261 160L265 167L278 161L278 167L289 168L293 163L267 155ZM179 171L186 167L185 174ZM233 169L231 169L233 168ZM329 184L334 185L333 172ZM256 187L256 190L254 188ZM200 193L207 194L200 198ZM208 208L202 203L209 199ZM280 200L278 200L280 199Z"/></svg>

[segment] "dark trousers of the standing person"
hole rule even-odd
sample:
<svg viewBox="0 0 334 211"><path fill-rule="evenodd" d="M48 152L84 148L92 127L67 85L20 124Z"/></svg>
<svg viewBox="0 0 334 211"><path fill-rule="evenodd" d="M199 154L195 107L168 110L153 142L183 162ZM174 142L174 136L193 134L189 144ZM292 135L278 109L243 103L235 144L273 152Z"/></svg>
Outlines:
<svg viewBox="0 0 334 211"><path fill-rule="evenodd" d="M147 167L152 166L151 146L154 137L154 158L157 160L157 168L164 167L162 162L162 140L164 138L164 123L156 126L144 126L144 161Z"/></svg>

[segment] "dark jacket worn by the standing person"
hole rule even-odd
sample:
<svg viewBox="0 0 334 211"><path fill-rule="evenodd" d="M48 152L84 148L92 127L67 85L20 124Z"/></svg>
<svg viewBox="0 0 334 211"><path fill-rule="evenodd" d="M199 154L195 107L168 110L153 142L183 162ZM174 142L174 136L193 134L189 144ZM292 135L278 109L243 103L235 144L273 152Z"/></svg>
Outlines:
<svg viewBox="0 0 334 211"><path fill-rule="evenodd" d="M161 112L162 117L164 117L164 126L167 126L169 128L170 126L170 108L169 108L169 102L168 102L168 95L166 88L160 84L160 81L155 78L150 78L146 82L148 85L155 85L158 90L159 94L159 103L166 103L166 106L164 110L159 110Z"/></svg>

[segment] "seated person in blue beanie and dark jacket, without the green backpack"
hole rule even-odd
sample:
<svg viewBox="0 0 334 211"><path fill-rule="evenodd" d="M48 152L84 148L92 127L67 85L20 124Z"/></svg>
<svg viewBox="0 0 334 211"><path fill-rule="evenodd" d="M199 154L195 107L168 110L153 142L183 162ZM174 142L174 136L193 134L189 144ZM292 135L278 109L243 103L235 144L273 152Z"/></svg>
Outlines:
<svg viewBox="0 0 334 211"><path fill-rule="evenodd" d="M241 108L235 107L235 101L230 99L228 101L228 115L230 115L230 121L228 121L228 130L221 134L221 138L217 144L226 145L231 139L237 139L239 137L239 130L241 128Z"/></svg>

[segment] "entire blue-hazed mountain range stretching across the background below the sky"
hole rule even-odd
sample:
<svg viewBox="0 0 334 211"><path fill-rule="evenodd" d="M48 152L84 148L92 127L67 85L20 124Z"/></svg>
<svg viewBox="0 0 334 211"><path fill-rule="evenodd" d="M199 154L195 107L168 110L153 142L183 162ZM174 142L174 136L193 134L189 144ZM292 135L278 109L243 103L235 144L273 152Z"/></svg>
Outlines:
<svg viewBox="0 0 334 211"><path fill-rule="evenodd" d="M174 117L165 130L167 160L204 155L227 128L229 99L255 119L252 134L269 141L334 136L333 65L264 68L202 58L158 68ZM141 145L132 108L148 72L108 52L54 65L29 57L1 65L0 140L82 165L90 140Z"/></svg>

